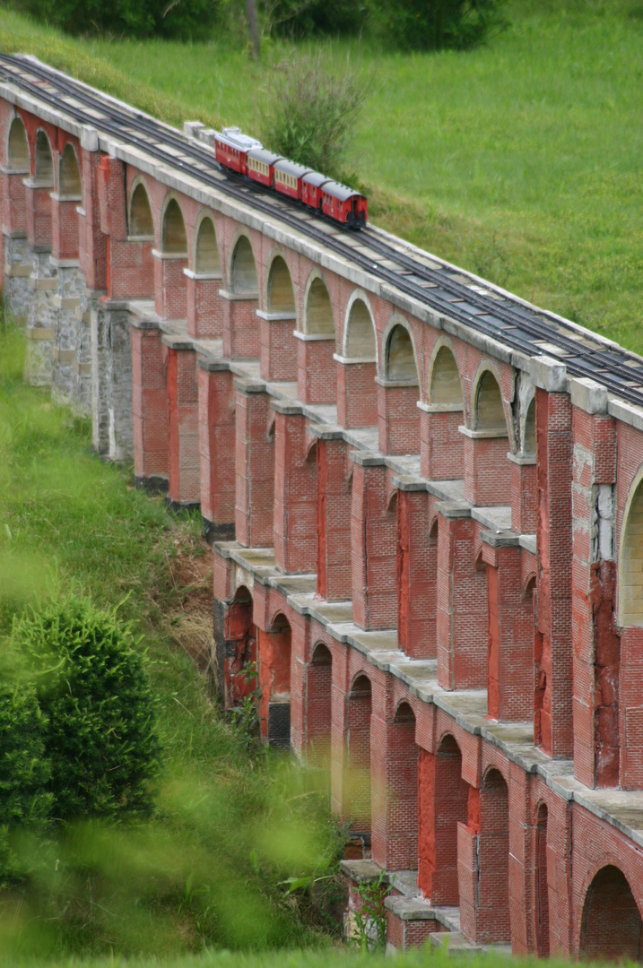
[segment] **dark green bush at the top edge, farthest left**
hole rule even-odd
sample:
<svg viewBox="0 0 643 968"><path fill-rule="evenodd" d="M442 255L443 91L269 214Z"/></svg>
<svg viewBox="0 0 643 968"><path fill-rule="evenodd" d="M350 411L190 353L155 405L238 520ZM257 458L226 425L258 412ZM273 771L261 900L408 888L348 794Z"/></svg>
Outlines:
<svg viewBox="0 0 643 968"><path fill-rule="evenodd" d="M18 0L19 7L71 34L132 37L202 36L217 17L217 0Z"/></svg>

